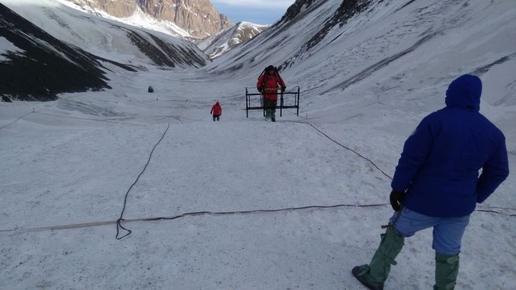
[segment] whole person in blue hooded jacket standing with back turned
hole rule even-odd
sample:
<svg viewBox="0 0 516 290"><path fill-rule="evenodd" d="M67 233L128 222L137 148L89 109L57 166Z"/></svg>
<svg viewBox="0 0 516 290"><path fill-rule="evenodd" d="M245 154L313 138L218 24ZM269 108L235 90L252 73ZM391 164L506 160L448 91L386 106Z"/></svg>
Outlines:
<svg viewBox="0 0 516 290"><path fill-rule="evenodd" d="M395 213L369 265L352 269L367 288L383 289L405 237L433 227L433 289L454 289L469 215L509 174L504 134L480 114L481 94L477 76L455 79L446 107L423 118L405 141L389 196Z"/></svg>

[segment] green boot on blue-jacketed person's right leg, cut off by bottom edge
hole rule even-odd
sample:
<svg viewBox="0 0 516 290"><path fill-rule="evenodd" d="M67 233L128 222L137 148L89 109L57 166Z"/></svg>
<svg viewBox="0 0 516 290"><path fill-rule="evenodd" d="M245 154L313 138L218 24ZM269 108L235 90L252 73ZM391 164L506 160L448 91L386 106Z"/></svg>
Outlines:
<svg viewBox="0 0 516 290"><path fill-rule="evenodd" d="M436 284L433 290L453 290L459 274L459 254L436 253Z"/></svg>

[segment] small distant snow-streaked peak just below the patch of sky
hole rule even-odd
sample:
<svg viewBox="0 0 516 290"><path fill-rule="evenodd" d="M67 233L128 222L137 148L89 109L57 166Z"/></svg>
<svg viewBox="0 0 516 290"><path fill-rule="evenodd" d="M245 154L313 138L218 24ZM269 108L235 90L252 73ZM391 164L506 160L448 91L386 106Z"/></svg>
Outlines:
<svg viewBox="0 0 516 290"><path fill-rule="evenodd" d="M210 59L215 59L238 45L256 37L270 25L259 25L249 22L239 22L233 27L226 28L216 34L206 37L197 43L197 46L204 51Z"/></svg>

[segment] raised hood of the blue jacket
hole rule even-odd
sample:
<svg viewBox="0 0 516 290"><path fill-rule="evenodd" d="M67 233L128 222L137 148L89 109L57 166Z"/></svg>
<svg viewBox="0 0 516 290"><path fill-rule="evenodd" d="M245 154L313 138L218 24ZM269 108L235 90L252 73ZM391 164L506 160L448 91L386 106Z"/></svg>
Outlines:
<svg viewBox="0 0 516 290"><path fill-rule="evenodd" d="M463 107L478 112L481 94L482 81L478 76L464 74L450 83L444 102L447 107Z"/></svg>

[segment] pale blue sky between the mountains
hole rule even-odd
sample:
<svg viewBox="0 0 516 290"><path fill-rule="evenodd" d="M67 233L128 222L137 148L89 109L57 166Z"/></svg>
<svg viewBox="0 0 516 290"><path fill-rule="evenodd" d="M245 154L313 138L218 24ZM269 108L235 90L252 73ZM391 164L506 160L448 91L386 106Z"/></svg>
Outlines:
<svg viewBox="0 0 516 290"><path fill-rule="evenodd" d="M281 19L295 0L211 0L219 13L238 23L272 24Z"/></svg>

